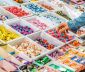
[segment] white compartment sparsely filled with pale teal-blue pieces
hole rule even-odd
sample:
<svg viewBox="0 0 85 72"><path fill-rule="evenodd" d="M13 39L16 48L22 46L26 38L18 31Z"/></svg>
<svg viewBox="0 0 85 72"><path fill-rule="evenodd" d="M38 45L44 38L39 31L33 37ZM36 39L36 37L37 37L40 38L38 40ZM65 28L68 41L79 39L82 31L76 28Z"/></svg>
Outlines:
<svg viewBox="0 0 85 72"><path fill-rule="evenodd" d="M47 20L48 22L52 22L54 26L58 26L62 22L67 22L65 18L60 17L59 15L56 15L53 12L43 13L40 15L40 17L43 18L44 20Z"/></svg>

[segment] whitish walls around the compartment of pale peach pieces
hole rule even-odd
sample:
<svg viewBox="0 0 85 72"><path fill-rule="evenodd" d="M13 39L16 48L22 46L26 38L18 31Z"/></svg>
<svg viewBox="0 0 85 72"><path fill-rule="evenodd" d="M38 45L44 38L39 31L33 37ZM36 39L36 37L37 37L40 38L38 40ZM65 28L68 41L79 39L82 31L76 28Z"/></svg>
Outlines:
<svg viewBox="0 0 85 72"><path fill-rule="evenodd" d="M23 38L17 39L17 40L15 40L15 41L13 41L13 42L10 42L9 45L15 46L17 43L22 42L24 39L28 40L31 44L35 44L36 46L38 46L38 47L42 50L42 53L41 53L39 56L35 56L34 58L29 58L29 57L25 54L26 57L27 57L27 60L29 60L29 61L36 60L38 57L41 57L41 56L45 55L45 54L48 52L48 50L46 50L45 48L39 46L36 42L32 41L32 40L29 39L28 37L23 37ZM16 49L16 47L14 47L14 48ZM19 51L19 50L18 50L18 51ZM44 52L44 53L43 53L43 52ZM23 53L24 53L24 52L23 52ZM24 56L23 56L23 57L24 57Z"/></svg>

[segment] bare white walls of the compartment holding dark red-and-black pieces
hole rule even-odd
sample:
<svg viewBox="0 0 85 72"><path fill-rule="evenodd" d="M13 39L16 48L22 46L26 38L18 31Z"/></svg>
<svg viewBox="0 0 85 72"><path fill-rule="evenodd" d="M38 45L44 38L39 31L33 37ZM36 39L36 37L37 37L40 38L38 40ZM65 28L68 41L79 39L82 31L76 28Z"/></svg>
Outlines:
<svg viewBox="0 0 85 72"><path fill-rule="evenodd" d="M32 34L32 35L29 35L28 37L31 38L32 40L34 40L35 42L36 42L36 39L38 39L39 37L42 38L42 39L45 39L45 40L48 41L49 44L53 44L53 45L54 45L54 48L53 48L53 49L58 48L58 47L60 47L60 46L63 45L62 42L60 42L60 41L57 40L57 39L52 38L51 36L49 36L49 35L48 35L47 33L45 33L45 32L37 32L37 33L34 33L34 34ZM41 44L39 44L39 45L41 45ZM42 46L42 45L41 45L41 46ZM43 47L44 47L44 46L43 46ZM46 49L47 49L47 48L46 48ZM51 49L51 50L52 50L52 49Z"/></svg>

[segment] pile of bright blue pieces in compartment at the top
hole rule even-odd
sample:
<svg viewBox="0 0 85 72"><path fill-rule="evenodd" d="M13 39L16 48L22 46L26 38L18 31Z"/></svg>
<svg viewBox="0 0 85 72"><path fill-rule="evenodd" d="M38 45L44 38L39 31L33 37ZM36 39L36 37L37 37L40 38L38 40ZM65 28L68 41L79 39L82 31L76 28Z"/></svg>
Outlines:
<svg viewBox="0 0 85 72"><path fill-rule="evenodd" d="M35 13L42 13L42 12L46 12L46 10L42 7L39 7L38 5L34 4L34 3L30 3L25 5L26 8L32 10Z"/></svg>

